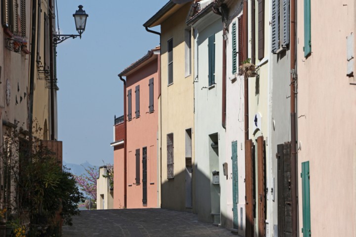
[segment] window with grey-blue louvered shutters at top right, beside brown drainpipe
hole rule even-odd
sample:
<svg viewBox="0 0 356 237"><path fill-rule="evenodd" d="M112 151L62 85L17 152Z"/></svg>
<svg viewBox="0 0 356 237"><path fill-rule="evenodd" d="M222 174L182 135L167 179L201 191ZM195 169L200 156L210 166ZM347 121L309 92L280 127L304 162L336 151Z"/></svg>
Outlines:
<svg viewBox="0 0 356 237"><path fill-rule="evenodd" d="M289 44L289 0L272 0L272 53Z"/></svg>

